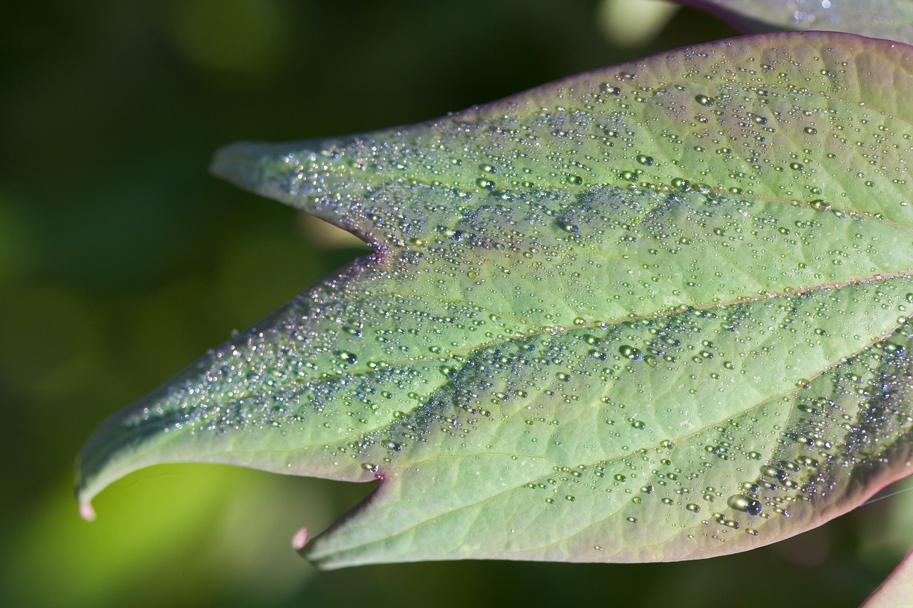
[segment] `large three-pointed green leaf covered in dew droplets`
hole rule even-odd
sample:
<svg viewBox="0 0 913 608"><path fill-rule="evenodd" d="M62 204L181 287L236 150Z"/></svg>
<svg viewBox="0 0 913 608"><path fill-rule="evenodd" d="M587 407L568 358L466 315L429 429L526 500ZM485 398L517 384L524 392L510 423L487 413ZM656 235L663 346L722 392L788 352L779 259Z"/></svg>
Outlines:
<svg viewBox="0 0 913 608"><path fill-rule="evenodd" d="M742 37L214 171L362 236L111 418L112 480L201 461L373 494L322 567L749 550L911 470L910 47Z"/></svg>

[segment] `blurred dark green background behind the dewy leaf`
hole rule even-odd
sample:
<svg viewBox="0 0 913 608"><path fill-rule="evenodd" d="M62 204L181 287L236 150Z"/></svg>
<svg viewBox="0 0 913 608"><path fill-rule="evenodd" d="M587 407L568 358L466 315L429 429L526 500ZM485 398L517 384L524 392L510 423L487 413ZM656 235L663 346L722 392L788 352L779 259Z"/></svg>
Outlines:
<svg viewBox="0 0 913 608"><path fill-rule="evenodd" d="M9 3L0 21L0 604L856 605L913 493L674 564L320 572L290 548L370 489L227 466L133 474L79 519L109 414L364 251L206 173L218 146L367 131L734 35L650 0ZM909 487L913 484L906 484Z"/></svg>

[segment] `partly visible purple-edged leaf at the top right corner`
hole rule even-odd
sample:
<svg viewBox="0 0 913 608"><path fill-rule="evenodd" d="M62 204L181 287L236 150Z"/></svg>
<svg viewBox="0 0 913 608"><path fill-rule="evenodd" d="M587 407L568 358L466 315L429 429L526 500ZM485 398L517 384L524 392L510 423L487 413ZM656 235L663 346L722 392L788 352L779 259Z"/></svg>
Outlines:
<svg viewBox="0 0 913 608"><path fill-rule="evenodd" d="M913 42L913 3L909 0L678 0L678 3L706 9L750 31L824 30Z"/></svg>

